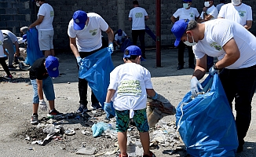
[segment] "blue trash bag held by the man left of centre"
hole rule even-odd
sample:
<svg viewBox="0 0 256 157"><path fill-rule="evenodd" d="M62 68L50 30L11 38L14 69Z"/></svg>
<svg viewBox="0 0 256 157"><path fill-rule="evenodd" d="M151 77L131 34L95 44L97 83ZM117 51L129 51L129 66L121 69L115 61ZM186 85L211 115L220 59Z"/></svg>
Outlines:
<svg viewBox="0 0 256 157"><path fill-rule="evenodd" d="M83 58L79 67L79 78L87 80L95 97L101 103L102 109L104 109L104 101L108 92L110 72L114 69L111 54L111 49L101 49L97 53ZM113 104L112 111L109 112L115 116Z"/></svg>

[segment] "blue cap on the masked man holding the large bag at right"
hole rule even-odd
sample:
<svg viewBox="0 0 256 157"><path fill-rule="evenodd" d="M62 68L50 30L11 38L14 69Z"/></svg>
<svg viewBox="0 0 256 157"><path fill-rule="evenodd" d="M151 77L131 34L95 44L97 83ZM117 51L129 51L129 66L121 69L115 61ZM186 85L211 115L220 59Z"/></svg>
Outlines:
<svg viewBox="0 0 256 157"><path fill-rule="evenodd" d="M187 29L187 26L188 26L188 22L189 20L186 19L182 19L182 20L177 20L175 23L174 23L174 26L171 28L171 32L173 32L173 34L175 35L176 37L176 40L174 42L174 46L178 46L180 41L181 41L181 37L184 35L186 29Z"/></svg>

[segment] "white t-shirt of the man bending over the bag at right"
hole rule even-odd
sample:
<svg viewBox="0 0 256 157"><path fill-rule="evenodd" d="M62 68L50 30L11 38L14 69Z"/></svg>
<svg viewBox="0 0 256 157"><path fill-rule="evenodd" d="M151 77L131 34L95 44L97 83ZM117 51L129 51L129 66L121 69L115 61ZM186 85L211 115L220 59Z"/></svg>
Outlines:
<svg viewBox="0 0 256 157"><path fill-rule="evenodd" d="M221 60L225 56L222 48L231 38L234 38L240 49L240 58L228 69L247 68L256 64L256 38L246 28L232 20L216 19L204 23L205 31L203 40L193 46L196 59L207 54Z"/></svg>

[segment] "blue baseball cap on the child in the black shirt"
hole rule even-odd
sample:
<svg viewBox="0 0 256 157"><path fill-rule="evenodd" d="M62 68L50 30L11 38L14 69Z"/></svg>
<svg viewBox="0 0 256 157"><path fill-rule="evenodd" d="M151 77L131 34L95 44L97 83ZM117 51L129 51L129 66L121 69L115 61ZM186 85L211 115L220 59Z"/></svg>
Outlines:
<svg viewBox="0 0 256 157"><path fill-rule="evenodd" d="M52 78L57 78L59 76L59 61L56 57L48 56L46 58L46 70L48 75Z"/></svg>

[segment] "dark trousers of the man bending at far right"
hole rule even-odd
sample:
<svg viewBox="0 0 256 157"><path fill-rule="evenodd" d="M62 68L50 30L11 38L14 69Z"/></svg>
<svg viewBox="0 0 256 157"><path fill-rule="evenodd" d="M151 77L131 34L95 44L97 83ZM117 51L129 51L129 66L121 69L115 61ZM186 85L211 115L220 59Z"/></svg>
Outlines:
<svg viewBox="0 0 256 157"><path fill-rule="evenodd" d="M256 65L249 68L226 69L220 73L222 86L232 108L235 99L236 130L239 145L247 135L251 123L251 100L256 88ZM221 108L220 108L221 110Z"/></svg>

